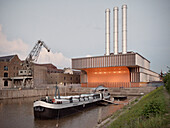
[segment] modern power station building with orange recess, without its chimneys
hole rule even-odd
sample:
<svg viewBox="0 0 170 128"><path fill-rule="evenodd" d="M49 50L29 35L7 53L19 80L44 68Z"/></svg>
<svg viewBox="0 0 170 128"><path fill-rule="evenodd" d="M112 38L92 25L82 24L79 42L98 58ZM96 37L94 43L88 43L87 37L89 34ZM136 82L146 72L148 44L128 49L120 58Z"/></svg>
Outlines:
<svg viewBox="0 0 170 128"><path fill-rule="evenodd" d="M72 59L72 68L82 70L83 87L138 87L140 83L159 81L150 70L150 62L138 53Z"/></svg>

